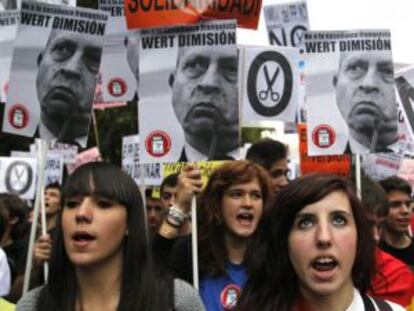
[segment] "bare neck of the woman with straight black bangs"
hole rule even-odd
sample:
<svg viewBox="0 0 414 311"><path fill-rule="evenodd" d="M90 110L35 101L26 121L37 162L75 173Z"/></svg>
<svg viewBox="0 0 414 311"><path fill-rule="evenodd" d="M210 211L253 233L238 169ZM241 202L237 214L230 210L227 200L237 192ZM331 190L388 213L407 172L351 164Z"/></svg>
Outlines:
<svg viewBox="0 0 414 311"><path fill-rule="evenodd" d="M122 256L111 262L77 267L77 311L115 311L121 296Z"/></svg>

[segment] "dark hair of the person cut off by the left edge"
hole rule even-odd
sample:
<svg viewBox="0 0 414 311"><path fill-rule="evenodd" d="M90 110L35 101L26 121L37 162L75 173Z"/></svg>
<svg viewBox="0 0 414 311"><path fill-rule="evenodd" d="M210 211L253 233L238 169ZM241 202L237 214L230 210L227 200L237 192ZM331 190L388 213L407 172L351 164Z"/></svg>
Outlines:
<svg viewBox="0 0 414 311"><path fill-rule="evenodd" d="M23 240L30 231L30 224L27 219L29 207L26 202L15 194L0 193L0 206L3 206L9 213L9 219L17 218L12 226L10 236L14 241Z"/></svg>

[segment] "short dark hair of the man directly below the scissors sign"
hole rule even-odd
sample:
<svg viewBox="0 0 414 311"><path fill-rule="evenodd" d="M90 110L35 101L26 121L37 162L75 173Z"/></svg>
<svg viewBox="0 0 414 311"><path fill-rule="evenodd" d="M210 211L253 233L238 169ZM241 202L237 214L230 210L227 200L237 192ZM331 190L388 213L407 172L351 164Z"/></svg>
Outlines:
<svg viewBox="0 0 414 311"><path fill-rule="evenodd" d="M270 170L273 164L287 158L286 145L277 140L265 139L254 143L246 153L246 159Z"/></svg>

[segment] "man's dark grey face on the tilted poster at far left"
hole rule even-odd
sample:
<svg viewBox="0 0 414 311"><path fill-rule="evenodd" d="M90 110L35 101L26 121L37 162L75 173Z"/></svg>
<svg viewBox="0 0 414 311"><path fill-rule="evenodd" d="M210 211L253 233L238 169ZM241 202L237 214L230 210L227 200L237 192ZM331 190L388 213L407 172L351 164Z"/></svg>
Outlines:
<svg viewBox="0 0 414 311"><path fill-rule="evenodd" d="M39 55L36 87L41 118L58 139L86 135L101 53L96 37L52 31Z"/></svg>

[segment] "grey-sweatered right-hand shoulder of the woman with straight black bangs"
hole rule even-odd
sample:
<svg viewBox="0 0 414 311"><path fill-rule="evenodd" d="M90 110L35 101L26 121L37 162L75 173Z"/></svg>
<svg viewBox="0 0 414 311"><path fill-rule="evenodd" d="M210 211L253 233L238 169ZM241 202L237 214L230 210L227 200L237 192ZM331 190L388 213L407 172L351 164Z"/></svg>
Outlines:
<svg viewBox="0 0 414 311"><path fill-rule="evenodd" d="M198 291L180 279L174 279L174 305L176 311L205 310Z"/></svg>

